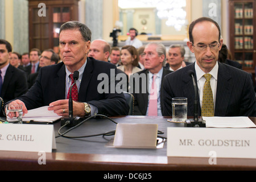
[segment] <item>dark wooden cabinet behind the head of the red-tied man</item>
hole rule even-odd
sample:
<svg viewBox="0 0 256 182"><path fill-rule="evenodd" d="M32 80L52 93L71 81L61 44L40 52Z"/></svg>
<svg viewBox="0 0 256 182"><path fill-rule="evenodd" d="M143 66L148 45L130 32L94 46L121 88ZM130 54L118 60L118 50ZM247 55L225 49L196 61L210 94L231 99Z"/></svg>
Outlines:
<svg viewBox="0 0 256 182"><path fill-rule="evenodd" d="M78 20L78 2L79 0L28 0L30 49L39 48L43 51L52 48L59 53L60 26L69 20ZM38 15L42 9L42 6L38 7L39 3L46 5L46 16Z"/></svg>

